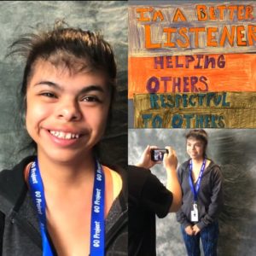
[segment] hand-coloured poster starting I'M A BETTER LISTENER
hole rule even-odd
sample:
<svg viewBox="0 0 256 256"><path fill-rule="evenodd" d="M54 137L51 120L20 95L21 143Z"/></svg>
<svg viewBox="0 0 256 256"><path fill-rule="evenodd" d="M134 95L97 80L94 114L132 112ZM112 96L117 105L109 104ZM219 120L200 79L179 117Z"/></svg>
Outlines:
<svg viewBox="0 0 256 256"><path fill-rule="evenodd" d="M129 8L135 128L255 128L256 3Z"/></svg>

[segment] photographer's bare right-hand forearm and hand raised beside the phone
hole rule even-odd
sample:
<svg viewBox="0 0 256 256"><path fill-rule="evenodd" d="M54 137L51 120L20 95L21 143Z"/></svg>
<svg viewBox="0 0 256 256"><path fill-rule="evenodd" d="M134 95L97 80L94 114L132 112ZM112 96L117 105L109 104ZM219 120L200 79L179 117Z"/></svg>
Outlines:
<svg viewBox="0 0 256 256"><path fill-rule="evenodd" d="M174 149L166 147L168 153L164 155L164 167L166 168L166 189L172 192L173 200L169 212L177 212L182 203L182 191L177 179L177 156Z"/></svg>

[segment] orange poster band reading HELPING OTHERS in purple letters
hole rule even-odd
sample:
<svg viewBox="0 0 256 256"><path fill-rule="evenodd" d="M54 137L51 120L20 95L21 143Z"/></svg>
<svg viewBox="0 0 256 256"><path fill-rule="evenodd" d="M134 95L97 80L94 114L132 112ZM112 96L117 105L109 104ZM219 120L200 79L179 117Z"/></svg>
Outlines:
<svg viewBox="0 0 256 256"><path fill-rule="evenodd" d="M158 80L156 93L165 92L196 92L200 91L256 91L256 55L226 54L222 55L222 65L218 66L218 55L184 55L162 56L163 61L154 67L154 57L129 57L128 82L129 98L134 94L150 93L148 88L155 86L153 82L148 88L148 81L154 77ZM215 59L215 67L205 67L205 58ZM157 57L160 58L160 57ZM191 61L192 59L195 61ZM167 63L168 62L168 63ZM221 63L221 62L219 62ZM179 66L179 67L178 67ZM181 67L183 66L183 67ZM201 67L201 68L195 68ZM163 79L164 78L164 79ZM191 78L194 82L191 84ZM196 78L198 82L195 83ZM203 78L203 79L202 79ZM179 87L173 84L179 81ZM179 91L178 91L179 90Z"/></svg>

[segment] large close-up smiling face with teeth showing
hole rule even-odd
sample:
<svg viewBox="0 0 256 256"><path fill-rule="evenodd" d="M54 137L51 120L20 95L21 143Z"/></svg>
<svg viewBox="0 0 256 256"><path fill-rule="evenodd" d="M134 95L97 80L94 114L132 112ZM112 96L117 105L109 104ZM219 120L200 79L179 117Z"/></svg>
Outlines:
<svg viewBox="0 0 256 256"><path fill-rule="evenodd" d="M69 73L38 61L26 90L26 129L38 155L61 162L85 160L108 119L110 95L98 73Z"/></svg>

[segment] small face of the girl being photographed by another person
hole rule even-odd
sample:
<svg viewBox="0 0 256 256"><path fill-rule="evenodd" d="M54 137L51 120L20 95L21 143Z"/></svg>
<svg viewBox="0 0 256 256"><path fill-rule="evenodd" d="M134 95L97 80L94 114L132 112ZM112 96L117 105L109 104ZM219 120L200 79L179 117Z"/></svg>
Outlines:
<svg viewBox="0 0 256 256"><path fill-rule="evenodd" d="M187 153L193 160L201 160L204 157L205 145L201 140L193 137L187 139Z"/></svg>

